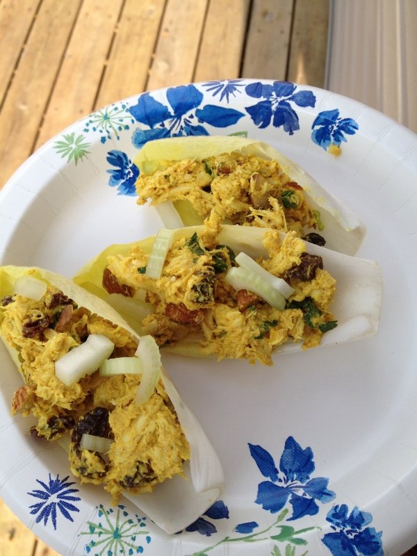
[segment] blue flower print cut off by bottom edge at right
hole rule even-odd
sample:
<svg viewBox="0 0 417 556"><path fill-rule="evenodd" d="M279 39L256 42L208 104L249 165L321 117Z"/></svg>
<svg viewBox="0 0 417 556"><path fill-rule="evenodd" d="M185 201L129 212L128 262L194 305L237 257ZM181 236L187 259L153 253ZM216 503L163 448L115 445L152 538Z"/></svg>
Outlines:
<svg viewBox="0 0 417 556"><path fill-rule="evenodd" d="M334 556L382 556L382 531L368 527L372 515L356 506L349 513L347 505L336 505L327 514L334 532L327 533L322 542Z"/></svg>

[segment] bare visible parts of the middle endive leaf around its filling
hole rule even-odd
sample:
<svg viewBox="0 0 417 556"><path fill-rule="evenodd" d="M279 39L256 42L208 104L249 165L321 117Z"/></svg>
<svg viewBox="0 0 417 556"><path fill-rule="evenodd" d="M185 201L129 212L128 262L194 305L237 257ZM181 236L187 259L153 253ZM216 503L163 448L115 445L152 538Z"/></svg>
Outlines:
<svg viewBox="0 0 417 556"><path fill-rule="evenodd" d="M190 238L195 233L202 234L204 229L203 226L177 229L174 240ZM268 254L263 246L265 233L264 228L223 224L217 241L231 247L236 255L245 252L253 259L257 259ZM284 236L285 234L282 233L281 238ZM126 255L137 246L142 247L145 252L149 252L152 241L153 238L146 238L137 243L123 246L112 245L86 265L74 280L85 288L93 286L98 291L101 288L101 276L109 254L115 254L118 249L120 254ZM338 326L322 336L320 345L345 343L376 334L382 305L382 273L377 262L359 259L311 243L306 243L306 250L310 254L320 255L324 268L336 279L336 295L331 309L338 321ZM108 294L101 288L100 295ZM131 324L133 325L133 323ZM198 335L186 336L176 345L165 346L164 350L199 357L203 355L199 345L200 340L202 338ZM276 351L299 352L301 350L301 343L285 343Z"/></svg>

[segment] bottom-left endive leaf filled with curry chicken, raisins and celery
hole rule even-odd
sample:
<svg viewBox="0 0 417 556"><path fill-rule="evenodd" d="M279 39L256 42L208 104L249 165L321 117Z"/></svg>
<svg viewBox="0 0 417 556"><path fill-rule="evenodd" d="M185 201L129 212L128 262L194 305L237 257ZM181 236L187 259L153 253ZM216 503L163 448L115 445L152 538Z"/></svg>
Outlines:
<svg viewBox="0 0 417 556"><path fill-rule="evenodd" d="M24 380L13 414L31 414L40 439L67 439L81 482L126 494L167 532L218 498L218 457L152 336L72 281L17 266L0 267L0 336Z"/></svg>

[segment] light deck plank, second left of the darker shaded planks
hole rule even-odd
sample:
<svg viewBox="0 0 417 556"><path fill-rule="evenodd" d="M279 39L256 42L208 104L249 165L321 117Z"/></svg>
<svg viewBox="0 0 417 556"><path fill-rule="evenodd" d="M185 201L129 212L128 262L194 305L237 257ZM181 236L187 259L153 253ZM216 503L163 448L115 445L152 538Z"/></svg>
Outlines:
<svg viewBox="0 0 417 556"><path fill-rule="evenodd" d="M167 0L147 90L193 81L207 0Z"/></svg>

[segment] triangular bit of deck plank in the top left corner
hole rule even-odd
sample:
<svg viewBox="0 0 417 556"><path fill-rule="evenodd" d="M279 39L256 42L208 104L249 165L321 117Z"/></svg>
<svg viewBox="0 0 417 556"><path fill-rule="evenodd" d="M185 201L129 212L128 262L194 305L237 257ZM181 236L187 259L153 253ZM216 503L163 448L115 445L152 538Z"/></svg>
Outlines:
<svg viewBox="0 0 417 556"><path fill-rule="evenodd" d="M0 4L0 104L22 54L38 5L39 1L33 0L6 0Z"/></svg>

